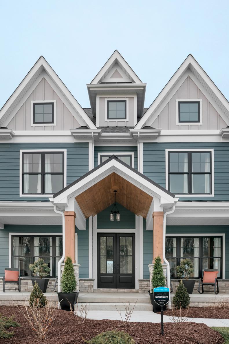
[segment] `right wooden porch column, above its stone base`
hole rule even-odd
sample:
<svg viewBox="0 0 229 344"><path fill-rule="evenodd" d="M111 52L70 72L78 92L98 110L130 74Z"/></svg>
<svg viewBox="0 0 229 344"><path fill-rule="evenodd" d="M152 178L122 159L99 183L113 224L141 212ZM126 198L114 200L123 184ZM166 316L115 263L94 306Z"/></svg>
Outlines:
<svg viewBox="0 0 229 344"><path fill-rule="evenodd" d="M153 212L153 263L157 256L163 260L163 212Z"/></svg>

